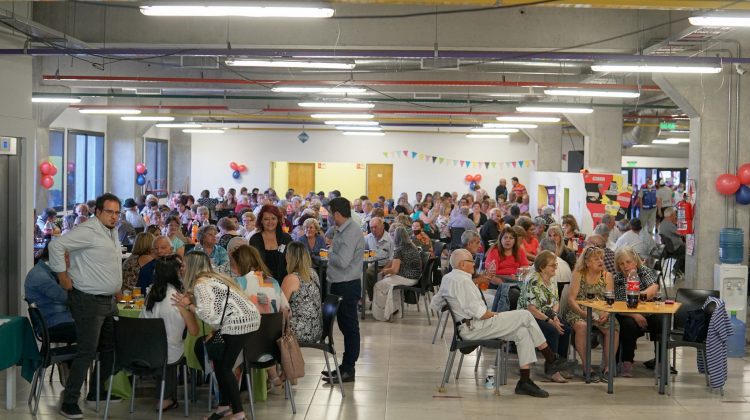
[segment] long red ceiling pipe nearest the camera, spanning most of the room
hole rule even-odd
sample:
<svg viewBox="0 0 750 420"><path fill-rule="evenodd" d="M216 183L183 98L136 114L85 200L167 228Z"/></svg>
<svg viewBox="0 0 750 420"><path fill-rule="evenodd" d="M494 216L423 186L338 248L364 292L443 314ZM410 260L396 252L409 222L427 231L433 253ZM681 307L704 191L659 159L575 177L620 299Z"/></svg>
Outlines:
<svg viewBox="0 0 750 420"><path fill-rule="evenodd" d="M238 85L268 85L278 84L290 86L299 85L339 85L342 82L330 80L247 80L247 79L203 79L193 77L130 77L130 76L56 76L44 75L44 80L58 81L96 81L96 82L148 82L148 83L216 83ZM360 80L351 84L365 86L462 86L462 87L563 87L586 89L630 89L642 91L660 91L656 85L602 85L596 83L559 83L559 82L508 82L508 81L476 81L476 80Z"/></svg>

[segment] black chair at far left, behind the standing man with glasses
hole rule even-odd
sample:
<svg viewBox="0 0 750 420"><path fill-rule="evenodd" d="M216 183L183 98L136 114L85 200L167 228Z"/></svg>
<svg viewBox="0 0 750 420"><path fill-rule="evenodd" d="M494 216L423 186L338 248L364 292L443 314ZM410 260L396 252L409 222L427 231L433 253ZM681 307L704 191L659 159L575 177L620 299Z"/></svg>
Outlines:
<svg viewBox="0 0 750 420"><path fill-rule="evenodd" d="M31 329L34 331L34 337L40 343L39 355L42 358L42 363L34 371L34 378L31 380L31 390L29 391L28 405L31 415L35 416L37 410L39 410L39 398L42 394L42 385L47 368L75 359L78 346L69 344L62 347L52 347L47 322L44 320L42 312L37 308L35 303L29 303L29 320L31 320ZM34 405L33 408L31 406L32 403Z"/></svg>

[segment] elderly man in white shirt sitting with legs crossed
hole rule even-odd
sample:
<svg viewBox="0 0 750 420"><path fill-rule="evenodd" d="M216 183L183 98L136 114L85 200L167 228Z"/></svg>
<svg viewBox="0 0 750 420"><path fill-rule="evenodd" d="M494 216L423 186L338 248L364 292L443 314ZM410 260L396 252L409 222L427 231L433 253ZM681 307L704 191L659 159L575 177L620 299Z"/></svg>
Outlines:
<svg viewBox="0 0 750 420"><path fill-rule="evenodd" d="M536 350L544 355L546 374L564 370L567 363L552 352L534 316L525 310L501 313L487 310L482 293L472 280L474 258L471 252L457 249L451 254L450 262L453 271L443 277L440 290L430 302L432 308L439 311L447 303L456 317L461 319L461 325L457 328L464 339L500 338L514 341L521 367L516 394L547 398L547 391L539 388L530 377L531 364L537 361Z"/></svg>

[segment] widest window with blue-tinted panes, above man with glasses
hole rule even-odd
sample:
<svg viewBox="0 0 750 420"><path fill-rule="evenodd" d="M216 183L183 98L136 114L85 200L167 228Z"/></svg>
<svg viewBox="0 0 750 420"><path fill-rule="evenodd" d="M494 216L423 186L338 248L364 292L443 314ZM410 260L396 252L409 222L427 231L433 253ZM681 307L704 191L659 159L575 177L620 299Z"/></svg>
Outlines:
<svg viewBox="0 0 750 420"><path fill-rule="evenodd" d="M67 208L104 192L104 135L68 131Z"/></svg>

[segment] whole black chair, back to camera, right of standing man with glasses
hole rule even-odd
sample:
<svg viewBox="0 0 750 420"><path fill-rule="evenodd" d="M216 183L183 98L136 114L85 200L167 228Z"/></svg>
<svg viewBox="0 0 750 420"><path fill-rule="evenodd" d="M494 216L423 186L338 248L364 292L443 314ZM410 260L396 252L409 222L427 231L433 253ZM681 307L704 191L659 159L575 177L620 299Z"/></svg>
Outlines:
<svg viewBox="0 0 750 420"><path fill-rule="evenodd" d="M137 337L137 339L136 339ZM144 345L148 343L148 345ZM123 370L133 375L130 394L130 413L135 412L135 384L138 376L161 375L159 394L159 420L164 404L164 381L167 376L167 329L161 318L115 317L115 354L112 374L109 377L107 403L104 406L104 419L109 416L109 401L112 396L112 382L115 373ZM185 375L185 408L187 410L187 376ZM187 413L186 413L187 415Z"/></svg>

